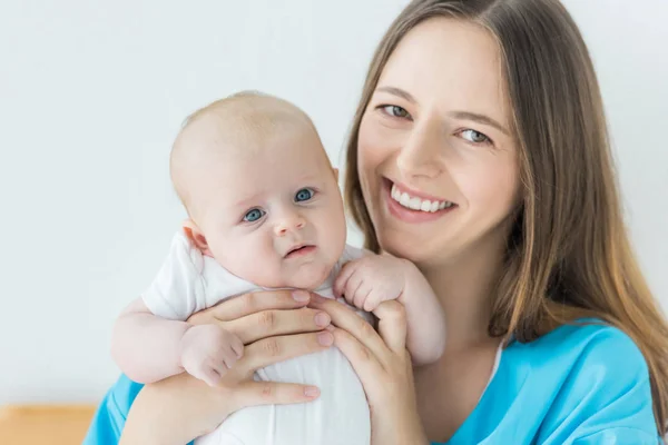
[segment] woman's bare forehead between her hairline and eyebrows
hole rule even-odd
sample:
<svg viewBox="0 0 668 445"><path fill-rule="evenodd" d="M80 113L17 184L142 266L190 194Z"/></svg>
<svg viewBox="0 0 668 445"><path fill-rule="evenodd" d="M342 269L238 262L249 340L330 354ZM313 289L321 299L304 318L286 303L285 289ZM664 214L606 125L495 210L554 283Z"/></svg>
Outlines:
<svg viewBox="0 0 668 445"><path fill-rule="evenodd" d="M385 66L377 87L407 91L421 106L471 110L505 119L501 53L481 26L438 18L411 30Z"/></svg>

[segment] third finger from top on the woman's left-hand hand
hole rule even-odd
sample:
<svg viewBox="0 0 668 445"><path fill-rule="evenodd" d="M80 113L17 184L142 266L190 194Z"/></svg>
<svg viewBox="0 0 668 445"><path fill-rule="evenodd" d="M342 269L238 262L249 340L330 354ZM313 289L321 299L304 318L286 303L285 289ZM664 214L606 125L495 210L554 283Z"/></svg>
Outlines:
<svg viewBox="0 0 668 445"><path fill-rule="evenodd" d="M263 338L246 345L244 357L236 363L234 370L240 373L243 378L248 378L258 368L325 350L333 343L334 337L328 330Z"/></svg>

